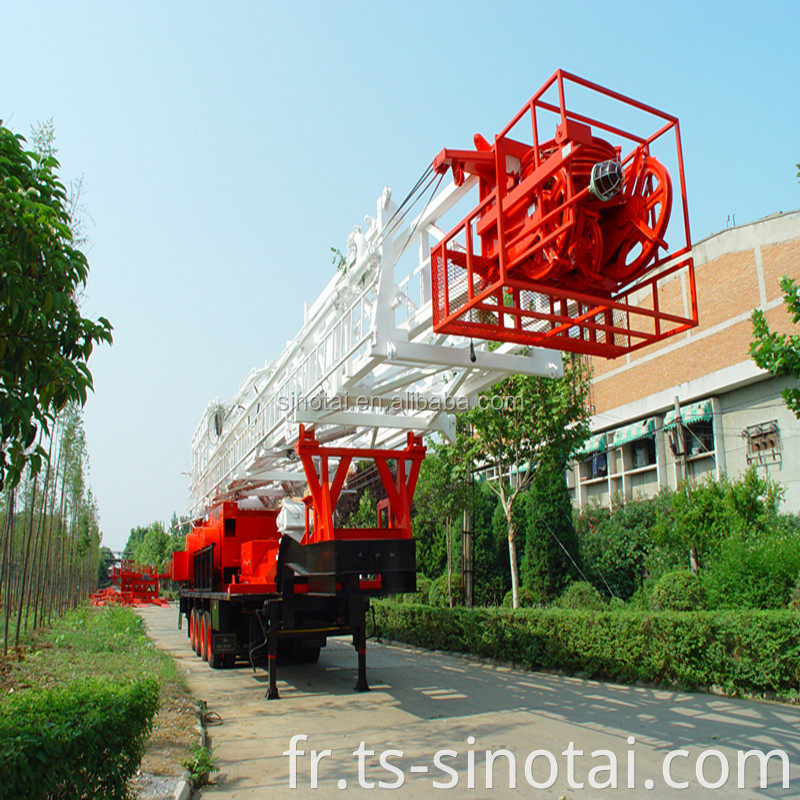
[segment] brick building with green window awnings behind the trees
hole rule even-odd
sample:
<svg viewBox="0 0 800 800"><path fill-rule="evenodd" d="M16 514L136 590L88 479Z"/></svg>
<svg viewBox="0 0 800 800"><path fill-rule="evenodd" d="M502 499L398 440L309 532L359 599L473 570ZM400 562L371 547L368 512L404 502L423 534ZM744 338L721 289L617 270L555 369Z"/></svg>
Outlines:
<svg viewBox="0 0 800 800"><path fill-rule="evenodd" d="M792 383L748 352L753 309L772 330L794 328L778 281L800 278L800 211L727 229L693 253L699 327L593 361L593 436L567 474L574 502L635 500L683 476L735 478L755 464L786 488L783 510L800 512L800 421L780 394ZM672 287L684 304L687 290Z"/></svg>

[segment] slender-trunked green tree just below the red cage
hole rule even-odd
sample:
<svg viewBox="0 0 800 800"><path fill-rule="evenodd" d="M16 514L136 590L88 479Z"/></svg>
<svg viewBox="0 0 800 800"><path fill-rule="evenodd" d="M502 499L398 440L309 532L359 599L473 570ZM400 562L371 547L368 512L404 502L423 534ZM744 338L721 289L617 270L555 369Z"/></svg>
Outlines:
<svg viewBox="0 0 800 800"><path fill-rule="evenodd" d="M515 506L536 469L563 471L570 454L586 440L589 381L585 360L565 355L562 378L506 378L465 415L471 432L462 438L462 446L469 457L496 473L488 485L506 519L514 608L519 607Z"/></svg>

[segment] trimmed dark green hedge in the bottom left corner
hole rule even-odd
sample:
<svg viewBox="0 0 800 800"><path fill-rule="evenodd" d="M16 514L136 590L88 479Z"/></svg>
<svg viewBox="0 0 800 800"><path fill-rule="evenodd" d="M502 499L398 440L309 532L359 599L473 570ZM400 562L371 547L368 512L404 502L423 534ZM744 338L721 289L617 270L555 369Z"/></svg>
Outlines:
<svg viewBox="0 0 800 800"><path fill-rule="evenodd" d="M85 679L0 703L0 800L125 800L158 709L158 682Z"/></svg>

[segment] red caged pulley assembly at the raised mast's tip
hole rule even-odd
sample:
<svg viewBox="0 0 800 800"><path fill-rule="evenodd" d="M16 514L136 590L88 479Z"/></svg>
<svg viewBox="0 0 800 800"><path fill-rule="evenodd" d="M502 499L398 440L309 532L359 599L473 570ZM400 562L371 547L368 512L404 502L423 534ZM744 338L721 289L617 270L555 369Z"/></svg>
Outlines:
<svg viewBox="0 0 800 800"><path fill-rule="evenodd" d="M567 87L655 128L641 134L578 113ZM433 163L457 184L476 176L479 194L431 250L436 332L614 358L697 325L675 117L558 70L494 143L476 134L474 144ZM683 242L673 253L673 186L656 147L678 170L683 218L671 230ZM688 303L665 291L679 274Z"/></svg>

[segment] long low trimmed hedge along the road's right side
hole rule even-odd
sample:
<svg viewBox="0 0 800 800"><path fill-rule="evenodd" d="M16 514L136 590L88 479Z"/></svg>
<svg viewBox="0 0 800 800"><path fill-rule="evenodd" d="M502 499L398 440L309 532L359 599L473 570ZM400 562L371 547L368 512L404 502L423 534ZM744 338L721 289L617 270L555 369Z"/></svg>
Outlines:
<svg viewBox="0 0 800 800"><path fill-rule="evenodd" d="M800 614L432 608L379 601L376 632L530 669L797 697Z"/></svg>

